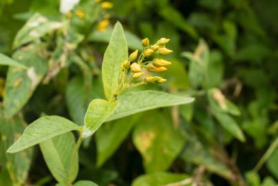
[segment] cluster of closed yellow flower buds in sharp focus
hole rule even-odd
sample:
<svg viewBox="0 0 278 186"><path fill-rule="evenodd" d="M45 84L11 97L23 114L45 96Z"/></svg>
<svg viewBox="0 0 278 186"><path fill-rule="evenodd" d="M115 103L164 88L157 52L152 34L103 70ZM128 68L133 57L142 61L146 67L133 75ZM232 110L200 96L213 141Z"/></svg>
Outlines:
<svg viewBox="0 0 278 186"><path fill-rule="evenodd" d="M155 58L152 61L147 61L145 59L153 54L171 54L173 51L165 47L169 41L170 39L161 38L155 44L150 45L149 39L143 39L142 53L138 55L138 50L136 50L129 55L126 61L122 62L122 74L119 77L120 85L122 87L133 87L147 83L164 83L167 81L160 76L149 76L149 72L163 72L167 70L166 67L171 65L171 62L159 58ZM143 76L145 78L140 79L140 77ZM136 81L136 83L133 83L133 81Z"/></svg>

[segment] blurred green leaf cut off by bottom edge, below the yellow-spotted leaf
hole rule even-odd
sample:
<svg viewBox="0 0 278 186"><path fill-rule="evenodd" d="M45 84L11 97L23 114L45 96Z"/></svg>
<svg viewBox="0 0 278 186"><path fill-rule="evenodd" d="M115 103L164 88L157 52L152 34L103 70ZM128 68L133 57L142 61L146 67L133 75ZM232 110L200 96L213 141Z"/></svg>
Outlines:
<svg viewBox="0 0 278 186"><path fill-rule="evenodd" d="M185 180L186 178L189 178L186 174L155 172L139 176L133 181L132 186L162 186L170 183L176 183L181 180Z"/></svg>

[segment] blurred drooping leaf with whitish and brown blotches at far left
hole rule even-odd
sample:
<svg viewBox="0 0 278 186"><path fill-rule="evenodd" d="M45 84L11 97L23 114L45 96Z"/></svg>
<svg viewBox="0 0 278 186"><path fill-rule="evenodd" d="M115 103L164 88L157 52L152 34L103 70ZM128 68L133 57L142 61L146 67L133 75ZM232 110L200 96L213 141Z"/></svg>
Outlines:
<svg viewBox="0 0 278 186"><path fill-rule="evenodd" d="M17 50L13 59L28 69L10 66L6 79L4 112L8 118L17 114L28 102L36 86L41 82L47 70L47 59L40 53L39 46L28 45Z"/></svg>

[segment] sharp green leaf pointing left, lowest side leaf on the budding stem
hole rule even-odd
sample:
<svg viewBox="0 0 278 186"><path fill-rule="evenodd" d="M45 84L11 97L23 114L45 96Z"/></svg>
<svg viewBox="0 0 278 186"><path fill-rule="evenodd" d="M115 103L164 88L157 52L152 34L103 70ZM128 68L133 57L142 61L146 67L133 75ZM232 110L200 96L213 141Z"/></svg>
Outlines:
<svg viewBox="0 0 278 186"><path fill-rule="evenodd" d="M19 152L71 130L78 130L78 125L61 116L43 116L28 125L22 136L20 136L7 152Z"/></svg>

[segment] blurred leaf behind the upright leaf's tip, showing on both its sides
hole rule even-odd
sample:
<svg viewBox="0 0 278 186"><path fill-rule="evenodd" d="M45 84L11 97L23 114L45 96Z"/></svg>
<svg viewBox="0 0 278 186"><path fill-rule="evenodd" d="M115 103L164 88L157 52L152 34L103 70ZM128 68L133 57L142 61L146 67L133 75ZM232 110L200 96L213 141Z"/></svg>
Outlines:
<svg viewBox="0 0 278 186"><path fill-rule="evenodd" d="M109 42L113 29L111 27L107 28L105 31L94 31L89 35L89 41L96 42ZM141 39L135 34L125 30L125 37L127 38L127 46L132 50L142 50Z"/></svg>

